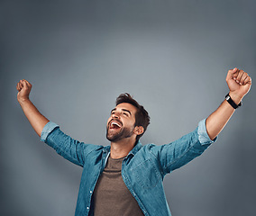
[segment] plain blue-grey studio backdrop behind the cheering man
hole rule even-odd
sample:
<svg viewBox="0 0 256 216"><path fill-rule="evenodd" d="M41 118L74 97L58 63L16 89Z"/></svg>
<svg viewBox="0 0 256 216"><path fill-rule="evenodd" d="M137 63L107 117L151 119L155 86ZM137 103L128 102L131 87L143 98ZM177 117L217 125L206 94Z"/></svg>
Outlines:
<svg viewBox="0 0 256 216"><path fill-rule="evenodd" d="M129 92L151 114L142 144L169 143L223 102L229 68L256 77L255 6L2 0L0 214L74 215L82 172L32 130L16 101L20 79L32 83L41 113L75 139L108 145L109 112ZM217 142L165 177L174 216L255 215L254 85Z"/></svg>

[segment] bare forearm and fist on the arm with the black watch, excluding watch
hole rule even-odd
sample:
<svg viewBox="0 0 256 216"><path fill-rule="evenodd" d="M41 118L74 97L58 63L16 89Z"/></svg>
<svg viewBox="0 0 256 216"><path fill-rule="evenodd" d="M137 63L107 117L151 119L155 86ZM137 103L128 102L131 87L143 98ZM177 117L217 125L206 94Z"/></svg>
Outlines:
<svg viewBox="0 0 256 216"><path fill-rule="evenodd" d="M251 88L251 77L243 70L233 68L226 76L229 87L229 95L233 102L239 104L242 98ZM210 139L215 137L224 129L225 124L233 115L234 108L226 100L206 119L206 130Z"/></svg>

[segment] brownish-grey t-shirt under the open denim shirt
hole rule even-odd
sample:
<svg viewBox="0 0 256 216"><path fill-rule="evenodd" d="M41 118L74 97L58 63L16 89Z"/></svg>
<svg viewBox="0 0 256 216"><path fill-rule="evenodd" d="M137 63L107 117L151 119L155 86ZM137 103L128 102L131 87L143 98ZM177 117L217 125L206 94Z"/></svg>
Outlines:
<svg viewBox="0 0 256 216"><path fill-rule="evenodd" d="M118 159L108 157L93 194L95 216L144 215L138 202L123 182L122 162L123 157Z"/></svg>

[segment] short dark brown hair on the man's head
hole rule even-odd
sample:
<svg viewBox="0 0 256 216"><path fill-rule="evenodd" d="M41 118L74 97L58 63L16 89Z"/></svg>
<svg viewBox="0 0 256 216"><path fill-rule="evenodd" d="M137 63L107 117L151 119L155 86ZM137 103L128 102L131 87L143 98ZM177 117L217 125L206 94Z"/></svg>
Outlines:
<svg viewBox="0 0 256 216"><path fill-rule="evenodd" d="M133 99L133 96L131 96L128 93L120 94L115 101L115 105L118 105L120 103L130 103L133 106L137 108L137 112L135 113L135 124L134 126L142 126L144 131L142 134L137 135L136 140L139 140L144 132L147 130L147 127L151 123L151 117L149 113L144 109L144 107L139 104L137 101Z"/></svg>

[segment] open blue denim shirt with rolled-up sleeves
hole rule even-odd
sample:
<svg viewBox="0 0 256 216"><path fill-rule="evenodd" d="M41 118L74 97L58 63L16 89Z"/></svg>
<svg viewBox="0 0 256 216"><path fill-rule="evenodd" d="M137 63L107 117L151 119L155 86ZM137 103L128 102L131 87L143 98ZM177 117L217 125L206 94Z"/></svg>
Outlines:
<svg viewBox="0 0 256 216"><path fill-rule="evenodd" d="M202 120L196 130L169 144L142 146L140 141L137 142L123 159L122 176L144 215L171 215L163 189L163 177L201 155L215 139L209 139L206 120ZM75 215L93 215L92 194L110 155L110 146L79 142L51 121L43 128L41 141L62 157L83 167Z"/></svg>

